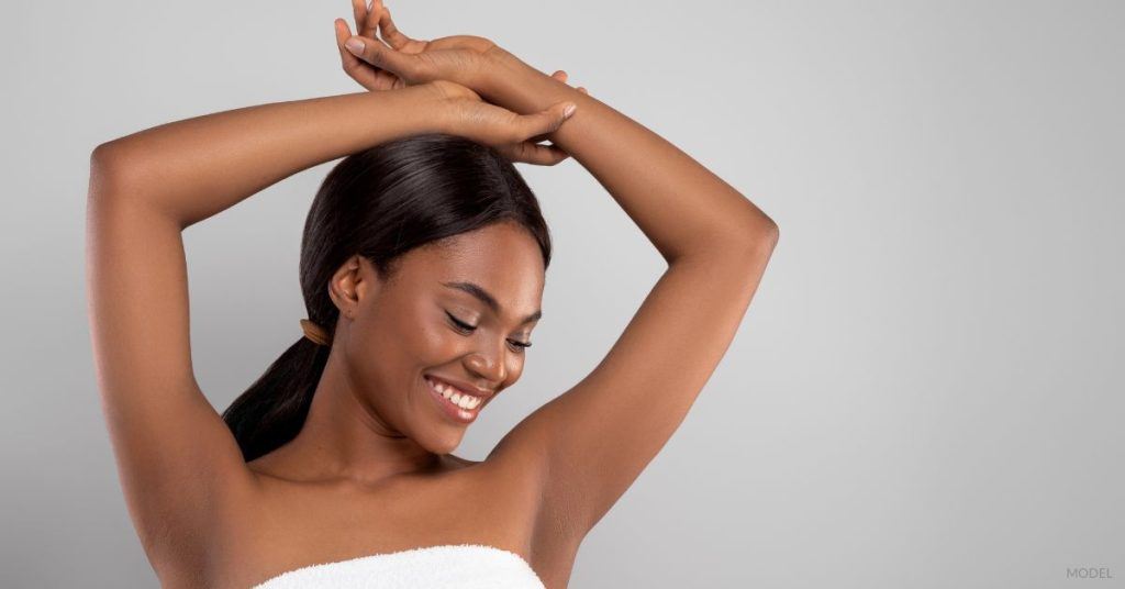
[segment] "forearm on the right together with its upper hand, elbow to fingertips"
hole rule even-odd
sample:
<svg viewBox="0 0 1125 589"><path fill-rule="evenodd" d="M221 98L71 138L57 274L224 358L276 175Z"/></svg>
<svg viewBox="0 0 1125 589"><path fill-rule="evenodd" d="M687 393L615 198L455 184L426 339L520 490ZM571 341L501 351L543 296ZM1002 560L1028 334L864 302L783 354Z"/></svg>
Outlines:
<svg viewBox="0 0 1125 589"><path fill-rule="evenodd" d="M713 251L717 242L776 242L777 225L741 193L664 137L560 81L565 77L547 75L484 37L413 39L380 2L374 10L380 10L382 41L349 38L346 25L336 21L336 44L352 78L363 83L378 72L396 86L453 81L519 114L564 101L576 105L567 125L542 139L578 160L669 264L700 249ZM367 20L361 23L370 33Z"/></svg>

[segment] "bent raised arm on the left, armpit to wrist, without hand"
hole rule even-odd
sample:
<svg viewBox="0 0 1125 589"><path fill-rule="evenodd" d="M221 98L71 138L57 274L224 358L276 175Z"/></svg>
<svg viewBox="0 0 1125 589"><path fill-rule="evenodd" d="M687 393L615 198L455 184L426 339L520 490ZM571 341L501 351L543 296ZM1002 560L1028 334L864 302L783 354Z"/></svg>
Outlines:
<svg viewBox="0 0 1125 589"><path fill-rule="evenodd" d="M165 583L205 570L214 524L255 481L194 375L182 230L309 166L431 131L440 117L420 91L240 108L93 151L87 279L98 385L129 514Z"/></svg>

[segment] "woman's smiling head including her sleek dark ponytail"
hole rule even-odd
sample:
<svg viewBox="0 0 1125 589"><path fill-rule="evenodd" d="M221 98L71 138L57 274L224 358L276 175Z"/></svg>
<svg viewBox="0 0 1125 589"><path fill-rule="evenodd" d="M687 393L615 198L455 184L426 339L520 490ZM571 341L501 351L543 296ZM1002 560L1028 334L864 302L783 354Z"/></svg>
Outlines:
<svg viewBox="0 0 1125 589"><path fill-rule="evenodd" d="M316 420L340 422L341 416L314 408L317 402L362 411L385 435L406 435L420 450L456 449L465 430L435 427L444 411L432 404L404 411L418 407L399 399L416 390L404 378L414 375L417 383L432 373L461 383L461 394L441 398L441 405L458 423L470 423L476 411L466 418L458 413L464 408L453 409L461 396L506 389L523 369L550 256L533 193L493 150L428 134L345 158L317 193L302 240L305 306L328 345L302 338L226 410L245 459L294 441L306 419L314 420L306 436L322 429ZM358 386L322 381L330 352ZM341 402L332 402L338 395Z"/></svg>

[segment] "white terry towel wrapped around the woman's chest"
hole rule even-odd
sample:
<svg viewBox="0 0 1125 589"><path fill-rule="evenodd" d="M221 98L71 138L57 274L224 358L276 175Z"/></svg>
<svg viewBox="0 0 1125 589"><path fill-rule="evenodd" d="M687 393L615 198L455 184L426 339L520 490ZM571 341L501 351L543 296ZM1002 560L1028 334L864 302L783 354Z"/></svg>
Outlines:
<svg viewBox="0 0 1125 589"><path fill-rule="evenodd" d="M546 589L514 552L484 544L446 544L281 573L254 589Z"/></svg>

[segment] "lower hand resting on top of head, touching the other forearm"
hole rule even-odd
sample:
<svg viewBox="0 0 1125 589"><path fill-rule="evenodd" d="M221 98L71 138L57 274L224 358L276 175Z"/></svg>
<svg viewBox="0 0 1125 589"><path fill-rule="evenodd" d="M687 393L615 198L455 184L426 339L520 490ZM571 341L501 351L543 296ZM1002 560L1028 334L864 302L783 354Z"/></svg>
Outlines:
<svg viewBox="0 0 1125 589"><path fill-rule="evenodd" d="M471 89L449 80L434 80L416 84L441 102L441 110L449 116L448 133L459 135L495 149L508 161L538 166L555 166L570 157L556 145L540 145L539 140L557 131L574 115L565 113L574 102L561 101L530 115L519 115L489 104ZM575 105L577 106L577 105Z"/></svg>

